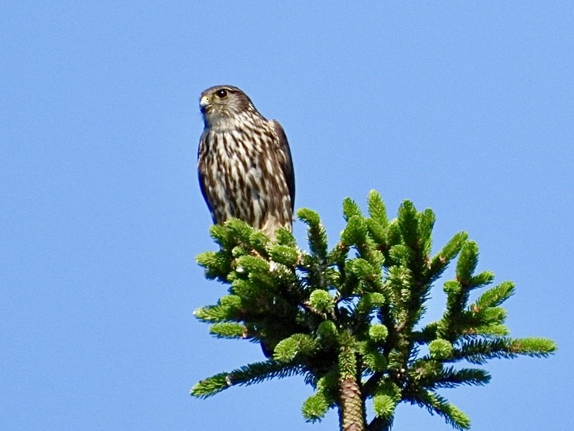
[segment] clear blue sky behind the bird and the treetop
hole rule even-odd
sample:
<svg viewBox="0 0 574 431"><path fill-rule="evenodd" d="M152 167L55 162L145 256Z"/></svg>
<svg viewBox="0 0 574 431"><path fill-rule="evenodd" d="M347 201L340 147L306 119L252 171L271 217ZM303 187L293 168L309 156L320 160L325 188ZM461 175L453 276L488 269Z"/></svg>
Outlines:
<svg viewBox="0 0 574 431"><path fill-rule="evenodd" d="M513 336L560 350L443 391L472 429L574 429L574 5L283 3L0 4L0 428L337 430L304 423L300 378L188 394L262 359L192 316L225 294L194 261L196 151L198 95L229 83L285 127L332 244L342 199L378 189L517 283ZM401 406L394 429L451 428Z"/></svg>

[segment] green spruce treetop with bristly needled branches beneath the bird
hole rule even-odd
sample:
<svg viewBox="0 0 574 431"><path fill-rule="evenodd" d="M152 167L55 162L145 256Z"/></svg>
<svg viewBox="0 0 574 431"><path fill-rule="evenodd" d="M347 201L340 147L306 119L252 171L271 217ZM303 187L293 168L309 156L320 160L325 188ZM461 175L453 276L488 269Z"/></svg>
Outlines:
<svg viewBox="0 0 574 431"><path fill-rule="evenodd" d="M376 191L368 209L366 216L345 199L347 225L333 249L318 214L299 210L309 252L287 230L271 241L239 220L211 228L220 250L197 260L207 278L229 285L229 294L195 315L219 338L261 343L268 359L209 377L193 386L193 396L302 374L315 389L302 407L310 422L337 408L341 430L389 430L397 404L412 403L467 430L470 419L438 389L483 385L490 375L460 364L556 351L546 338L508 335L501 304L515 293L513 283L495 285L470 303L473 290L492 283L494 274L475 273L479 250L465 232L433 256L431 210L419 212L405 201L389 220ZM421 326L434 281L457 256L455 278L443 283L443 316ZM367 424L368 399L373 419Z"/></svg>

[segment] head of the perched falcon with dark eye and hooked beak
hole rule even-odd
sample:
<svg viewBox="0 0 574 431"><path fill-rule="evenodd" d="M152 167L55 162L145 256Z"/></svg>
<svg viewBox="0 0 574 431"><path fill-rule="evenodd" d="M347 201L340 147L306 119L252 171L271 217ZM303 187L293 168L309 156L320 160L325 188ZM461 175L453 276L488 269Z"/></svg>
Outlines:
<svg viewBox="0 0 574 431"><path fill-rule="evenodd" d="M232 85L217 85L201 93L199 107L206 124L229 120L246 110L254 110L247 95Z"/></svg>

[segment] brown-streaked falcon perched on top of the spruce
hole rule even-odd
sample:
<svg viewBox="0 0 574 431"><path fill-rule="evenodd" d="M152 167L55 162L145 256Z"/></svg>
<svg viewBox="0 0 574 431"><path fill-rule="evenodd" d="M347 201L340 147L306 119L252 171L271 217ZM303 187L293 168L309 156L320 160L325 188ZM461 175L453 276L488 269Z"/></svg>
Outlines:
<svg viewBox="0 0 574 431"><path fill-rule="evenodd" d="M199 105L199 184L213 223L239 218L271 238L277 228L290 230L295 178L281 125L232 85L203 91Z"/></svg>

